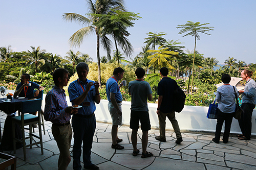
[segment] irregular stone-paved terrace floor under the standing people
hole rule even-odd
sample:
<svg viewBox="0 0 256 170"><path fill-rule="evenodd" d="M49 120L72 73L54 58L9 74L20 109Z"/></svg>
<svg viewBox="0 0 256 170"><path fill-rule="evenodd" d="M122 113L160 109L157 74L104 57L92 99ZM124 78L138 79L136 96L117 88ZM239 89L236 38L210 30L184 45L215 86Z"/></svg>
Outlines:
<svg viewBox="0 0 256 170"><path fill-rule="evenodd" d="M5 114L0 113L1 127L3 130ZM51 123L46 122L46 135L44 140L44 155L40 148L27 148L27 161L23 160L23 150L5 151L5 153L17 157L17 169L57 169L59 151L51 133ZM141 152L138 156L132 156L131 129L122 126L118 130L120 143L124 150L111 149L110 124L97 123L93 139L92 162L100 169L256 169L256 139L241 141L230 137L229 142L219 144L212 142L211 135L182 133L183 142L175 143L174 132L166 132L166 142L159 142L155 136L158 130L148 132L148 152L153 157L142 159ZM36 128L37 129L37 128ZM141 149L142 132L138 131L138 149ZM29 141L27 141L29 142ZM73 142L73 140L72 140ZM72 147L70 149L72 155ZM82 159L81 159L82 160ZM68 169L72 169L72 162Z"/></svg>

